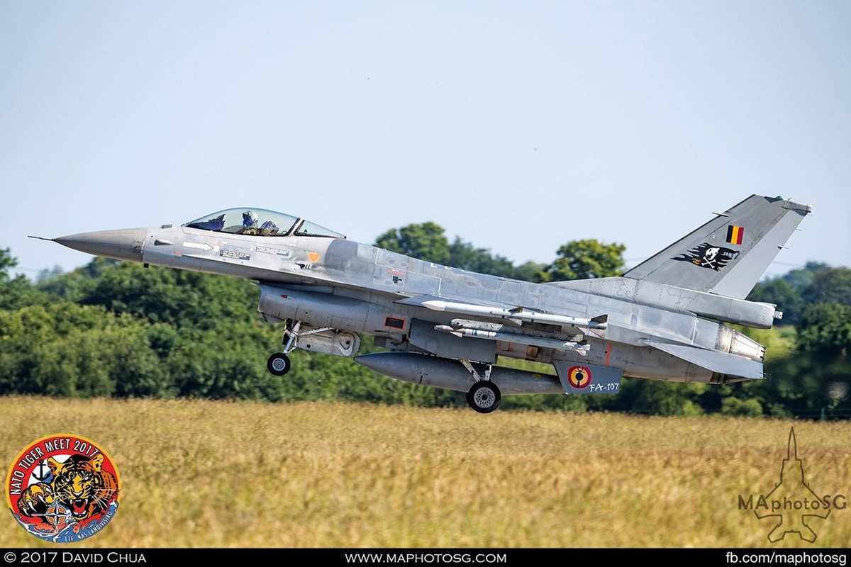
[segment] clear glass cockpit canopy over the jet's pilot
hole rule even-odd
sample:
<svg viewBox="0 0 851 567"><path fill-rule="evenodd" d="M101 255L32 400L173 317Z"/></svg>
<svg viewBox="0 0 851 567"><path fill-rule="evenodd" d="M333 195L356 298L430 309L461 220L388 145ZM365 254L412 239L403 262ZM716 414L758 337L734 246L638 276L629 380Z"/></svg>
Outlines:
<svg viewBox="0 0 851 567"><path fill-rule="evenodd" d="M186 228L258 236L325 236L346 238L304 218L262 208L230 208L184 224Z"/></svg>

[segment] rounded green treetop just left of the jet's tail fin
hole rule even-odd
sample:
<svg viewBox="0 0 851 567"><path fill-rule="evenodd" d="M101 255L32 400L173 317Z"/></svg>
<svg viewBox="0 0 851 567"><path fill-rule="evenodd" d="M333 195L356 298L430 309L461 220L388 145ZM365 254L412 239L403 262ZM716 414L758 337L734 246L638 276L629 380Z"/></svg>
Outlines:
<svg viewBox="0 0 851 567"><path fill-rule="evenodd" d="M625 264L623 244L603 244L590 239L559 247L558 258L547 271L547 281L585 280L620 275Z"/></svg>

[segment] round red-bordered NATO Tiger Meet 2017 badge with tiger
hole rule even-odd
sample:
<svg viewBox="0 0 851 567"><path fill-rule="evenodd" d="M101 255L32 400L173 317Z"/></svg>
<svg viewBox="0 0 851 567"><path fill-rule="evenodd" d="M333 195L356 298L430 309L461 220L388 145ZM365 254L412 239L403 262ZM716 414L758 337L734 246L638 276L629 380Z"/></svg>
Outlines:
<svg viewBox="0 0 851 567"><path fill-rule="evenodd" d="M118 469L100 445L71 434L28 445L6 478L6 500L18 524L45 541L93 536L118 508Z"/></svg>

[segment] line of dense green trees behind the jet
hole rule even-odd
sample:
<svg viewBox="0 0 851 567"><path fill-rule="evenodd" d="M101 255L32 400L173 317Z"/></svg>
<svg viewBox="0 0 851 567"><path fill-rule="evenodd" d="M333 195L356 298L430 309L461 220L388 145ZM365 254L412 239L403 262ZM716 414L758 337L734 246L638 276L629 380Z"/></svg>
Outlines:
<svg viewBox="0 0 851 567"><path fill-rule="evenodd" d="M388 230L394 252L524 281L619 275L618 243L570 241L551 264L514 265L434 223ZM403 383L352 360L299 350L285 377L266 371L283 326L257 311L249 281L94 258L35 281L12 276L0 249L0 394L205 399L352 400L465 405L463 393ZM771 330L739 328L768 347L768 379L725 386L625 378L618 395L506 396L503 409L627 411L658 415L848 418L851 269L809 263L762 281L749 299L783 309ZM361 352L378 350L364 340ZM523 366L523 361L507 364Z"/></svg>

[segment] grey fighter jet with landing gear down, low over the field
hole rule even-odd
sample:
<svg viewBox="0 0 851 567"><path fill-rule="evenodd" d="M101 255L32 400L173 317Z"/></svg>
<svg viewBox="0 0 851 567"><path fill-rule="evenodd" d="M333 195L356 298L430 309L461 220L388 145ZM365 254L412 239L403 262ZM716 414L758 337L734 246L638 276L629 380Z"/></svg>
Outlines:
<svg viewBox="0 0 851 567"><path fill-rule="evenodd" d="M274 375L287 374L294 349L346 356L405 382L465 392L488 413L503 395L617 394L621 377L762 379L765 349L725 323L768 329L782 316L745 297L811 212L753 195L623 275L544 284L409 258L252 207L44 240L254 281L260 313L283 323L283 349L266 364ZM358 355L362 336L384 350ZM512 358L554 374L500 365Z"/></svg>

